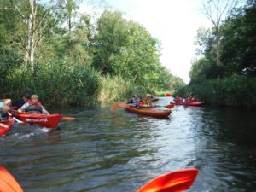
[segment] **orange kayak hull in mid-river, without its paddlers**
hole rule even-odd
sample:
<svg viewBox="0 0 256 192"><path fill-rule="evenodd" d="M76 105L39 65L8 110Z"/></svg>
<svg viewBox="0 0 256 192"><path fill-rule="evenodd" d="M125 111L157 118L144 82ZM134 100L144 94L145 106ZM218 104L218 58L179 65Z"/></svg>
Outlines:
<svg viewBox="0 0 256 192"><path fill-rule="evenodd" d="M155 118L167 118L172 113L171 110L157 110L154 108L138 109L138 108L131 108L130 106L125 107L125 110L131 113L137 113L137 114L155 117Z"/></svg>

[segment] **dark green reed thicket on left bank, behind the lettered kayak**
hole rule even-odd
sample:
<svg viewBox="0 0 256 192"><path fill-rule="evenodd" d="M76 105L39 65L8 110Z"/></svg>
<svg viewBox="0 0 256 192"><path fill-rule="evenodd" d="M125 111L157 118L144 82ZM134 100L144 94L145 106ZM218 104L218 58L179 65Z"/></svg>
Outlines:
<svg viewBox="0 0 256 192"><path fill-rule="evenodd" d="M51 61L15 69L7 78L9 91L20 90L38 94L45 104L91 105L96 103L99 92L99 74L81 63Z"/></svg>

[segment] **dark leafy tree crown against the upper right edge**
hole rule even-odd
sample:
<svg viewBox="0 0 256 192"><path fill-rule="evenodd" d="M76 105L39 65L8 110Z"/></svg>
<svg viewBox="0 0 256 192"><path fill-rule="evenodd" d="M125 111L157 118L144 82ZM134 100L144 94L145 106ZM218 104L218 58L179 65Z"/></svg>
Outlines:
<svg viewBox="0 0 256 192"><path fill-rule="evenodd" d="M221 60L224 73L255 75L256 73L256 3L241 9L227 20Z"/></svg>

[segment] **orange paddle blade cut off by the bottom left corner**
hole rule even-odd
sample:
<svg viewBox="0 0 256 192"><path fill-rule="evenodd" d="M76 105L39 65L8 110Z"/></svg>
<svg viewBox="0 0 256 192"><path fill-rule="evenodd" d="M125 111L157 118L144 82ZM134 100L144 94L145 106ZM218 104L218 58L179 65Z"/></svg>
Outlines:
<svg viewBox="0 0 256 192"><path fill-rule="evenodd" d="M23 192L20 184L2 165L0 165L0 191L1 192Z"/></svg>

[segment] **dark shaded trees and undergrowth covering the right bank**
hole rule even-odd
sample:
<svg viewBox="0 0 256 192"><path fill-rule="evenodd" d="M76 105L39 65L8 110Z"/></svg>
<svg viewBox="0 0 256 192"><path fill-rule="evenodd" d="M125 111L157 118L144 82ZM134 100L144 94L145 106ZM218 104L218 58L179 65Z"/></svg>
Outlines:
<svg viewBox="0 0 256 192"><path fill-rule="evenodd" d="M201 57L192 63L189 85L177 94L195 95L215 105L256 107L255 18L256 4L248 1L247 6L224 20L218 67L212 54L216 34L211 29L200 29L195 44L200 46L197 52Z"/></svg>

